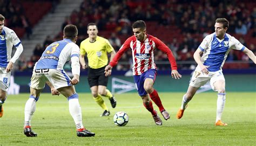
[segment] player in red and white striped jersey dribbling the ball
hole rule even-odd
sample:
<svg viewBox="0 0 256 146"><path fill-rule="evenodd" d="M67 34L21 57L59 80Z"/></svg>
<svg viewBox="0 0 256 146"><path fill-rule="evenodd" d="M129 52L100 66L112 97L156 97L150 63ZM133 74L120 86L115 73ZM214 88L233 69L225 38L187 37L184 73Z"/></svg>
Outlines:
<svg viewBox="0 0 256 146"><path fill-rule="evenodd" d="M118 60L126 52L126 50L131 49L133 59L133 78L134 82L136 83L138 93L140 97L142 97L143 104L146 109L152 113L156 125L162 125L162 121L157 112L153 109L152 102L149 99L150 96L154 103L159 107L164 119L168 120L170 115L161 104L157 91L153 88L157 75L157 67L154 63L154 50L157 48L167 54L171 64L172 77L179 79L181 75L177 71L177 64L170 48L158 38L146 34L146 24L143 20L138 20L133 23L132 31L134 35L124 42L112 61L106 66L105 75L110 75L111 72L109 70L117 65Z"/></svg>

